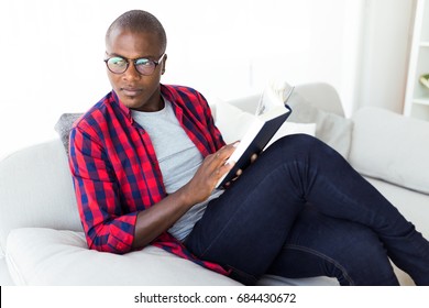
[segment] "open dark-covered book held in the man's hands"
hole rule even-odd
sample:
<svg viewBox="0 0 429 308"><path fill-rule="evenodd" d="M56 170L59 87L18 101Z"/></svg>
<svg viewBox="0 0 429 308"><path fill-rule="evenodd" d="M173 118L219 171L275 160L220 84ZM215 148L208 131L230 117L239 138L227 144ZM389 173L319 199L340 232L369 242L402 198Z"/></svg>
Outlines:
<svg viewBox="0 0 429 308"><path fill-rule="evenodd" d="M239 169L245 169L250 165L253 154L264 150L292 112L286 103L293 91L294 87L284 84L282 87L273 85L263 92L256 109L257 117L253 119L235 151L226 162L226 164L235 162L235 165L219 179L217 188L232 180Z"/></svg>

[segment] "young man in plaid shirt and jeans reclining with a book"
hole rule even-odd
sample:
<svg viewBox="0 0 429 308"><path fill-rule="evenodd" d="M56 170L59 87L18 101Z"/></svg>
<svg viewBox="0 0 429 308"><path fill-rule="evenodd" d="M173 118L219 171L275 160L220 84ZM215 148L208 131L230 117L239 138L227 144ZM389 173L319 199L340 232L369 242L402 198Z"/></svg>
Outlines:
<svg viewBox="0 0 429 308"><path fill-rule="evenodd" d="M161 246L254 284L264 274L397 285L391 257L429 285L429 243L332 148L294 135L224 190L232 165L205 98L160 84L166 34L129 11L106 34L112 91L70 133L69 165L88 246Z"/></svg>

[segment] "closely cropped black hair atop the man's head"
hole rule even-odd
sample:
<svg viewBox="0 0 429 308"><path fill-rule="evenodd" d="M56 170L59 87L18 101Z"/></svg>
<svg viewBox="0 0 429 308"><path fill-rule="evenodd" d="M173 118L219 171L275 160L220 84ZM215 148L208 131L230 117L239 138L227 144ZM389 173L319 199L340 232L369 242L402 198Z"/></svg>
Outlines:
<svg viewBox="0 0 429 308"><path fill-rule="evenodd" d="M150 12L131 10L117 18L106 32L106 42L110 33L116 29L130 30L131 32L156 33L163 52L167 48L167 35L162 23Z"/></svg>

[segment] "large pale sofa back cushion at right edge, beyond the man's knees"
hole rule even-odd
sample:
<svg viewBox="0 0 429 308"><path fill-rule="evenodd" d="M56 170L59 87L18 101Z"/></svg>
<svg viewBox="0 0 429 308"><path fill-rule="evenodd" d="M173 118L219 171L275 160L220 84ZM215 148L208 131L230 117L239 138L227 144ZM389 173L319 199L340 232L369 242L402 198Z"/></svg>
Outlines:
<svg viewBox="0 0 429 308"><path fill-rule="evenodd" d="M429 194L429 122L370 107L353 121L350 162L358 172Z"/></svg>

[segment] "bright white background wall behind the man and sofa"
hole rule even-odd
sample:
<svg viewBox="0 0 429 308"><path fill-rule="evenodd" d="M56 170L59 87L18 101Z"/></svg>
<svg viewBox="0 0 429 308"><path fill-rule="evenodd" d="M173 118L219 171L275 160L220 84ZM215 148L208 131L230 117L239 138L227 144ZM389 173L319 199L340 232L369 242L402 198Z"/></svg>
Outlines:
<svg viewBox="0 0 429 308"><path fill-rule="evenodd" d="M167 31L164 82L230 99L260 92L273 78L327 81L350 113L358 95L365 102L374 90L386 95L367 79L372 74L360 72L374 69L376 57L384 58L384 47L392 45L382 48L376 36L362 35L361 25L366 18L377 26L375 15L385 8L393 7L398 16L408 0L381 0L383 6L371 4L376 6L374 18L362 14L364 3L378 1L3 0L0 157L55 138L53 127L63 112L85 111L110 90L102 62L105 32L114 18L134 8L153 12ZM370 47L360 47L362 42L383 54L372 57ZM389 65L378 72L392 74Z"/></svg>

